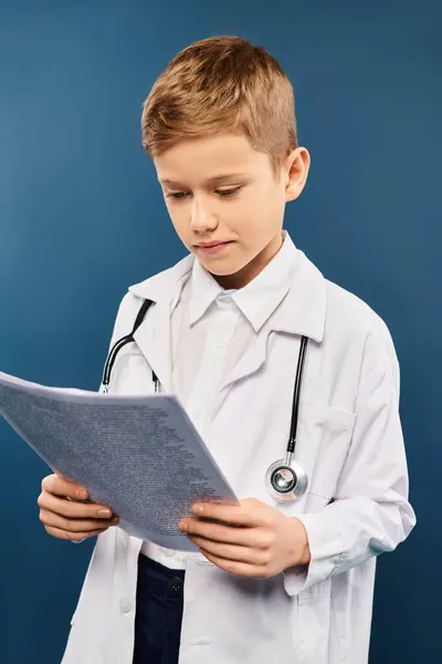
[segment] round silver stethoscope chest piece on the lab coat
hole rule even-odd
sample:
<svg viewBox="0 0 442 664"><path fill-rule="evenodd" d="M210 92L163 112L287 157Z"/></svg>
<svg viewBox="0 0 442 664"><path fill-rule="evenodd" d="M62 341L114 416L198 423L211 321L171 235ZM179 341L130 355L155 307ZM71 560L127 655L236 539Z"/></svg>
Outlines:
<svg viewBox="0 0 442 664"><path fill-rule="evenodd" d="M275 500L294 502L307 490L307 474L298 461L291 459L287 463L287 459L278 459L269 467L265 486Z"/></svg>

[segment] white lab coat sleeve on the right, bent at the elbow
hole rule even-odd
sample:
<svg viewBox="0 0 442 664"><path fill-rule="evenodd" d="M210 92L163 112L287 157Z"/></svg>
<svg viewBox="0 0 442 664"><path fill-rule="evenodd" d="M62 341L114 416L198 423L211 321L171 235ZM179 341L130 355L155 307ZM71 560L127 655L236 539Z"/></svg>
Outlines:
<svg viewBox="0 0 442 664"><path fill-rule="evenodd" d="M285 570L294 596L328 577L393 551L415 523L408 502L408 469L399 418L399 364L390 333L375 318L367 334L356 396L356 423L335 501L297 515L311 562Z"/></svg>

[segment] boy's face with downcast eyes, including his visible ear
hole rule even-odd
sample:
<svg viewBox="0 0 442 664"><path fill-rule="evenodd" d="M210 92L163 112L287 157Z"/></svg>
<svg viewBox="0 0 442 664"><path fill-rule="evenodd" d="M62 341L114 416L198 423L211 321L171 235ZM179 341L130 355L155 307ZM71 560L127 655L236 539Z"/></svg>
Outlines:
<svg viewBox="0 0 442 664"><path fill-rule="evenodd" d="M182 142L154 164L181 241L229 289L249 283L280 250L285 204L303 190L309 155L296 148L277 181L269 155L243 135L220 134Z"/></svg>

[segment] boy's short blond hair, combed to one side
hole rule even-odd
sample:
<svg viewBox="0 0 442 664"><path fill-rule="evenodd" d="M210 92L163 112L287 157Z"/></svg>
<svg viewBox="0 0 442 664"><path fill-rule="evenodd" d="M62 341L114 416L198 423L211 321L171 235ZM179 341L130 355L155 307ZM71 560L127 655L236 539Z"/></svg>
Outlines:
<svg viewBox="0 0 442 664"><path fill-rule="evenodd" d="M240 37L211 37L180 51L143 106L143 146L151 158L223 132L269 154L276 175L297 147L292 83L267 51Z"/></svg>

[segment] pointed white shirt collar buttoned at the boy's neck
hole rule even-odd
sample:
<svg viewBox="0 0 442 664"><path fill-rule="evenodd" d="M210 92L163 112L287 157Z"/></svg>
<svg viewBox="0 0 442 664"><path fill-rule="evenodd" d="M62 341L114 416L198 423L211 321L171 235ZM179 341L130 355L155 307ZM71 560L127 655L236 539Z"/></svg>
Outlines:
<svg viewBox="0 0 442 664"><path fill-rule="evenodd" d="M288 232L283 234L280 251L252 281L231 295L256 333L286 295L296 264L297 249ZM194 261L190 278L189 322L192 325L223 289L199 260Z"/></svg>

